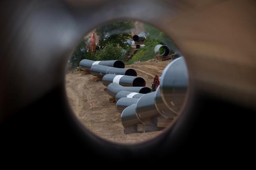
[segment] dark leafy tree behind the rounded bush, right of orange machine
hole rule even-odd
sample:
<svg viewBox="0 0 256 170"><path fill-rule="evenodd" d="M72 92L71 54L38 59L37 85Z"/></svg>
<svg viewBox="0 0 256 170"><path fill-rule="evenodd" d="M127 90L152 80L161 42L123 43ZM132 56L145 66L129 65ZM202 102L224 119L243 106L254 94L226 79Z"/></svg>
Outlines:
<svg viewBox="0 0 256 170"><path fill-rule="evenodd" d="M118 44L123 49L129 49L126 40L131 39L131 29L135 27L134 21L113 22L96 29L99 36L99 46L105 48L108 43Z"/></svg>

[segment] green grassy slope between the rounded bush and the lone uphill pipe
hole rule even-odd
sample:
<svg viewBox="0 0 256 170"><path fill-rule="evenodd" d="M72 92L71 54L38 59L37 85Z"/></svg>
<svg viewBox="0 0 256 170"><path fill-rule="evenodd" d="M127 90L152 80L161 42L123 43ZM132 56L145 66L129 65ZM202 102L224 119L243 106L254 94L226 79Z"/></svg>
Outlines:
<svg viewBox="0 0 256 170"><path fill-rule="evenodd" d="M157 44L161 44L161 42L154 40L153 38L148 37L143 44L144 47L138 49L138 51L133 55L133 57L127 61L125 64L133 64L135 61L148 61L155 57L154 48Z"/></svg>

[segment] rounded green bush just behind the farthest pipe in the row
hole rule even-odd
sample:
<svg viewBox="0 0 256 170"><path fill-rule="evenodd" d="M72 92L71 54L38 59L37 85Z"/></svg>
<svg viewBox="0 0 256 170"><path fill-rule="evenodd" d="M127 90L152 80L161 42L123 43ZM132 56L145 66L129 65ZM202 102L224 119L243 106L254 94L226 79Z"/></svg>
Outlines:
<svg viewBox="0 0 256 170"><path fill-rule="evenodd" d="M96 60L124 60L125 54L121 47L117 44L106 44L105 48L97 51Z"/></svg>

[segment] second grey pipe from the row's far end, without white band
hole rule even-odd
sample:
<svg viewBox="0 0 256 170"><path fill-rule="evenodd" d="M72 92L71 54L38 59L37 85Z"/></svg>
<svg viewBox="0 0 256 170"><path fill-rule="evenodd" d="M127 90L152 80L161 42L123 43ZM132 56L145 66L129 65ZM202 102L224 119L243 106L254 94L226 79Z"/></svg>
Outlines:
<svg viewBox="0 0 256 170"><path fill-rule="evenodd" d="M106 74L137 76L136 71L131 68L114 68L114 67L101 66L96 64L94 64L91 67L90 72L92 75L97 77L103 77Z"/></svg>

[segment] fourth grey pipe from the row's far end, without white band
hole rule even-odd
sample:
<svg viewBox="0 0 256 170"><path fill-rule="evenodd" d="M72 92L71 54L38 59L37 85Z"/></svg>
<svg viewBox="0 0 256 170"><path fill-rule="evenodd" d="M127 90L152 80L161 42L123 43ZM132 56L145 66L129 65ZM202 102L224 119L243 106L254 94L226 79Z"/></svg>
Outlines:
<svg viewBox="0 0 256 170"><path fill-rule="evenodd" d="M119 85L117 83L110 83L108 85L107 93L110 96L116 97L116 94L119 91L131 91L131 92L146 94L146 93L150 93L151 89L148 88L148 87L124 87L124 86L121 86L121 85Z"/></svg>

